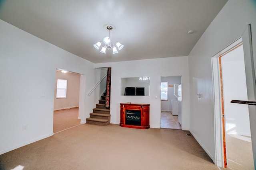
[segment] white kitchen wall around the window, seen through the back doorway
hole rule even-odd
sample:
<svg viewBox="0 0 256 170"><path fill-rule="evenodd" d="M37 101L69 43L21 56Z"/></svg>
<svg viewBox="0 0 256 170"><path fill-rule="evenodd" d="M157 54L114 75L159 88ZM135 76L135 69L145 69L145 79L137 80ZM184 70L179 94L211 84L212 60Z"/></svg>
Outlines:
<svg viewBox="0 0 256 170"><path fill-rule="evenodd" d="M164 76L161 77L161 82L168 82L168 85L181 84L181 76ZM168 100L161 101L161 110L172 111L172 100L178 100L178 98L173 94L173 87L168 87Z"/></svg>

